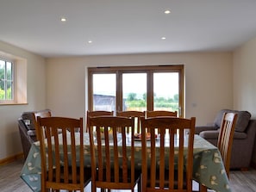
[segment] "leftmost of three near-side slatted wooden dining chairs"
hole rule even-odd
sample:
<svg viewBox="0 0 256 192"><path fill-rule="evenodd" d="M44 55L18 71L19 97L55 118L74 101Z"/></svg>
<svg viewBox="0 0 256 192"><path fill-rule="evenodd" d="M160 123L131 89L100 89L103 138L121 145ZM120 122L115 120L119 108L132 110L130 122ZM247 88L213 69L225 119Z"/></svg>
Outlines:
<svg viewBox="0 0 256 192"><path fill-rule="evenodd" d="M83 118L39 116L37 122L41 147L41 191L84 191L91 181L91 169L84 169Z"/></svg>

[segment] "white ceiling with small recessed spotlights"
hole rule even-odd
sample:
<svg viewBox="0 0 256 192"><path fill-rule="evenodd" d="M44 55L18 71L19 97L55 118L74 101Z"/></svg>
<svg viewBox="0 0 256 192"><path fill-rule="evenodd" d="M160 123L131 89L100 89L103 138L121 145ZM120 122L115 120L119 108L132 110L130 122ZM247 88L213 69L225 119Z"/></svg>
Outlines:
<svg viewBox="0 0 256 192"><path fill-rule="evenodd" d="M255 0L0 0L0 40L44 57L232 51L253 37Z"/></svg>

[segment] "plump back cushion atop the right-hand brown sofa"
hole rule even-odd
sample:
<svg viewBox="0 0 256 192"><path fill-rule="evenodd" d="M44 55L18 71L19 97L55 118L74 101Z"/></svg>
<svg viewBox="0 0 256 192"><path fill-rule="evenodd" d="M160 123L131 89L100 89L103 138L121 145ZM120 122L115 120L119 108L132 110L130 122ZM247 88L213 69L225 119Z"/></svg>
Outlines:
<svg viewBox="0 0 256 192"><path fill-rule="evenodd" d="M222 109L215 117L214 124L217 127L221 127L222 116L224 113L237 113L237 120L235 123L236 132L244 132L247 128L247 125L251 119L251 114L248 111L238 111L230 109Z"/></svg>

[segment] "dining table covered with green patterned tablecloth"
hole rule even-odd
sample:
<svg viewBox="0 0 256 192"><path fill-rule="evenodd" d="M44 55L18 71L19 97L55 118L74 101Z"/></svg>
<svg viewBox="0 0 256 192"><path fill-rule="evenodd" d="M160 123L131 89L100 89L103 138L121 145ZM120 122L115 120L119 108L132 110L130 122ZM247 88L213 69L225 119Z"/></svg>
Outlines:
<svg viewBox="0 0 256 192"><path fill-rule="evenodd" d="M76 139L79 139L77 137ZM128 140L131 140L128 138ZM156 146L159 139L156 140ZM186 141L185 141L186 142ZM122 143L122 142L121 142ZM150 142L148 142L150 145ZM177 141L178 145L178 141ZM141 168L141 141L136 140L135 166ZM79 146L77 147L78 150ZM168 147L166 147L166 152ZM228 176L218 148L195 134L193 148L193 180L203 184L207 189L216 192L230 192ZM91 151L89 133L84 133L84 166L91 167ZM21 171L22 180L35 192L41 191L41 150L40 142L36 141L28 152L28 157Z"/></svg>

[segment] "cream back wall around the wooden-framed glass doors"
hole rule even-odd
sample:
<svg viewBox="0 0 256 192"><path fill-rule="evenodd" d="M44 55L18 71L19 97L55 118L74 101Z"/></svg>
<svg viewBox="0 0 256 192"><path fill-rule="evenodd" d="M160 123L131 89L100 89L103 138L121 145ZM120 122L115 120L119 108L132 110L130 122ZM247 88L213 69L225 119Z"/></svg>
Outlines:
<svg viewBox="0 0 256 192"><path fill-rule="evenodd" d="M197 125L233 108L232 53L163 53L47 59L47 108L54 115L84 117L86 69L110 65L185 65L185 116ZM107 85L106 85L107 86Z"/></svg>

